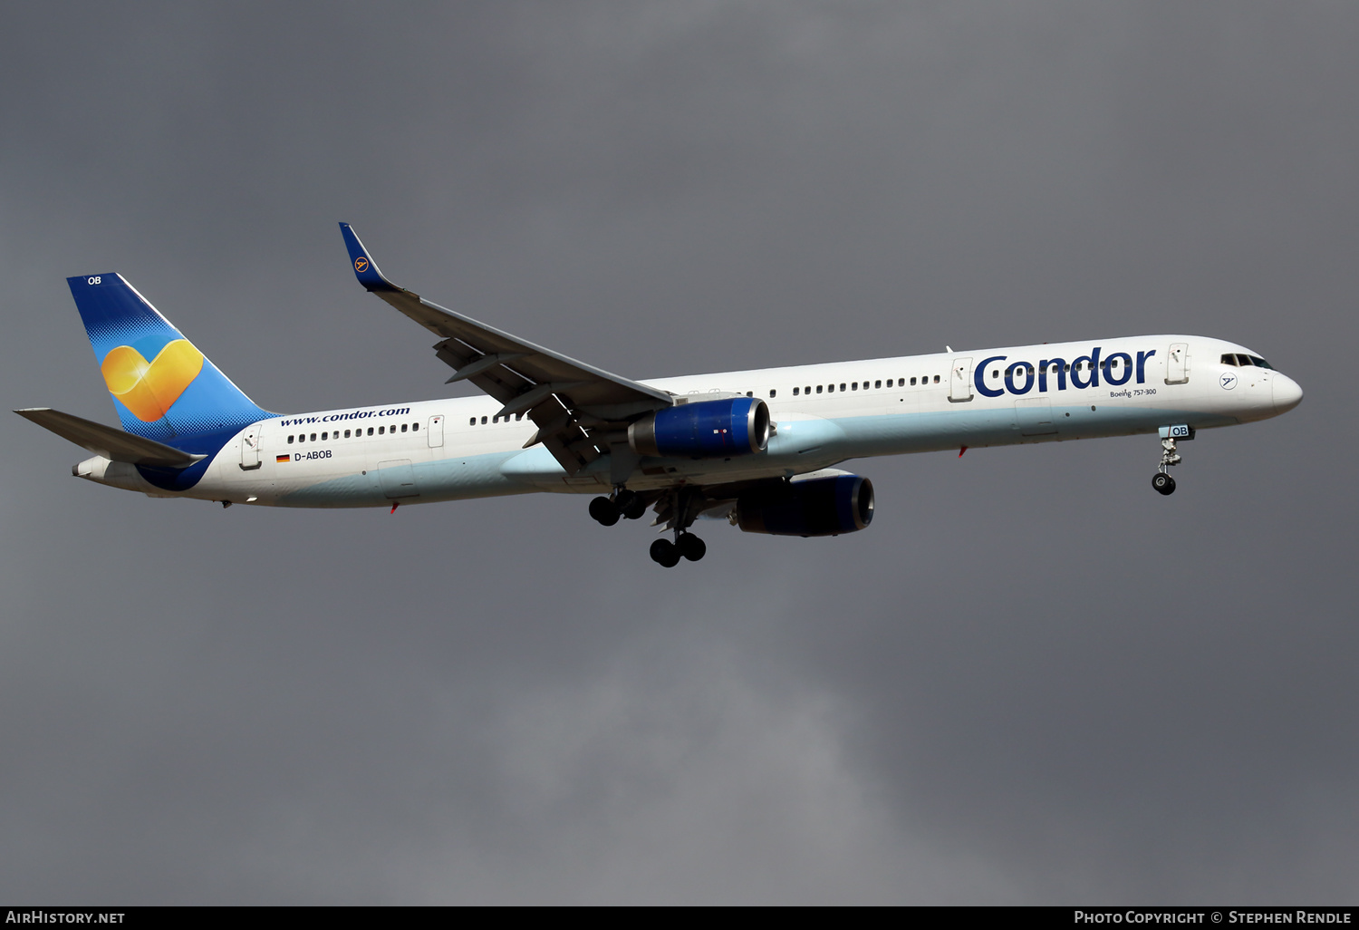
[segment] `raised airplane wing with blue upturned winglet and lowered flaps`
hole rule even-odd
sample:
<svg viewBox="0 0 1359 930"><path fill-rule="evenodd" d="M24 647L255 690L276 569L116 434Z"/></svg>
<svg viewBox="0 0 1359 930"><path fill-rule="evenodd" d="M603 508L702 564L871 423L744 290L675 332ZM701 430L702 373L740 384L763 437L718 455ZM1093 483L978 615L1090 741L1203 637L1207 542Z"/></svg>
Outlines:
<svg viewBox="0 0 1359 930"><path fill-rule="evenodd" d="M487 326L389 281L348 223L340 224L359 283L440 337L435 354L504 407L500 416L527 413L538 427L527 445L544 443L575 475L609 451L626 446L628 421L674 404L655 388L576 362L518 336Z"/></svg>

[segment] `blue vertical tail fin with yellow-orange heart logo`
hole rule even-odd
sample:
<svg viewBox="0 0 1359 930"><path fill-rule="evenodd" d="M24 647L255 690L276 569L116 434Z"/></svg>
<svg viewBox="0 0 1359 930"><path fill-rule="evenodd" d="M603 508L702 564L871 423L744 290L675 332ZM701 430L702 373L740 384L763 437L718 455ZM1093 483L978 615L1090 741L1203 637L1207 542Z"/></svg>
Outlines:
<svg viewBox="0 0 1359 930"><path fill-rule="evenodd" d="M173 446L272 416L122 275L68 277L122 428ZM177 442L178 441L178 442Z"/></svg>

